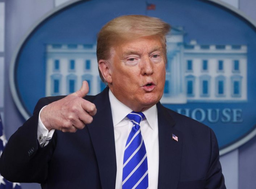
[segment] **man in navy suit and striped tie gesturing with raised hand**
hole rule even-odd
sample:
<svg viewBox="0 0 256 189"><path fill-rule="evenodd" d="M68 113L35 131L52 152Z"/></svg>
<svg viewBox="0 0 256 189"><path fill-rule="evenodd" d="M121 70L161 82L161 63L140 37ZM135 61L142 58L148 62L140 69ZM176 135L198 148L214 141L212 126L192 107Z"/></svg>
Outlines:
<svg viewBox="0 0 256 189"><path fill-rule="evenodd" d="M213 131L159 102L169 29L147 16L107 23L97 59L108 87L86 96L83 82L66 97L39 100L9 139L1 174L42 188L226 188Z"/></svg>

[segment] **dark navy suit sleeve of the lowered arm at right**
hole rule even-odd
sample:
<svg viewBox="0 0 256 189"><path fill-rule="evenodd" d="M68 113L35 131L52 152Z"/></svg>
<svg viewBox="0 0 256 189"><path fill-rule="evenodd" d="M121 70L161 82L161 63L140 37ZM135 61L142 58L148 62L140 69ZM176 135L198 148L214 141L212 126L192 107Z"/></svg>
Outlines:
<svg viewBox="0 0 256 189"><path fill-rule="evenodd" d="M210 129L211 159L206 178L206 189L226 189L221 163L219 162L219 147L216 136Z"/></svg>

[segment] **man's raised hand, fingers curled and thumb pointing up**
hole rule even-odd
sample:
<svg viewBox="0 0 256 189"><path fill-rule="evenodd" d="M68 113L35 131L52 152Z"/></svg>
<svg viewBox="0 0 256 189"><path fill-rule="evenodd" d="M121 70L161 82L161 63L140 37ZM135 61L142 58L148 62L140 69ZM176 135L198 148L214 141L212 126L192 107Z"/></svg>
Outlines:
<svg viewBox="0 0 256 189"><path fill-rule="evenodd" d="M88 91L88 83L83 81L78 91L43 108L40 118L45 127L49 131L76 132L91 123L97 109L93 103L83 99Z"/></svg>

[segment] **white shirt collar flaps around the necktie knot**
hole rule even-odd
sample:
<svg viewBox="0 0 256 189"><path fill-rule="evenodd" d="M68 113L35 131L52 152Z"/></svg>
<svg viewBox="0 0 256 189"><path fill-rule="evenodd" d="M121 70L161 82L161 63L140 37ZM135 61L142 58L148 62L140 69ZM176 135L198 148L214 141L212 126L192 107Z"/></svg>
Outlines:
<svg viewBox="0 0 256 189"><path fill-rule="evenodd" d="M109 101L112 111L113 125L116 126L119 122L121 122L126 115L131 113L133 110L124 105L122 102L117 100L114 94L109 89ZM156 105L150 107L149 109L143 111L148 124L154 130L154 127L157 126L157 108Z"/></svg>

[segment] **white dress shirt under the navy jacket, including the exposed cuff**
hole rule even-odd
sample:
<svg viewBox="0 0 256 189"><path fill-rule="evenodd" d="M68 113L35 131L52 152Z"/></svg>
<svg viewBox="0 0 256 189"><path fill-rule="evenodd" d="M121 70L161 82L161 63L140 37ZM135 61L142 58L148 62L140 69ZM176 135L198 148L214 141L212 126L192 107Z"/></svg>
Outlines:
<svg viewBox="0 0 256 189"><path fill-rule="evenodd" d="M129 107L122 104L109 90L109 100L112 111L114 126L114 137L116 145L117 175L116 189L122 188L123 154L125 145L133 123L126 117L131 111ZM41 112L40 112L41 113ZM146 119L140 122L140 130L146 146L148 161L148 189L158 188L158 166L159 166L159 142L158 142L158 116L156 105L143 111ZM48 132L43 125L40 114L38 118L38 140L40 145L47 145L51 139L54 129Z"/></svg>

